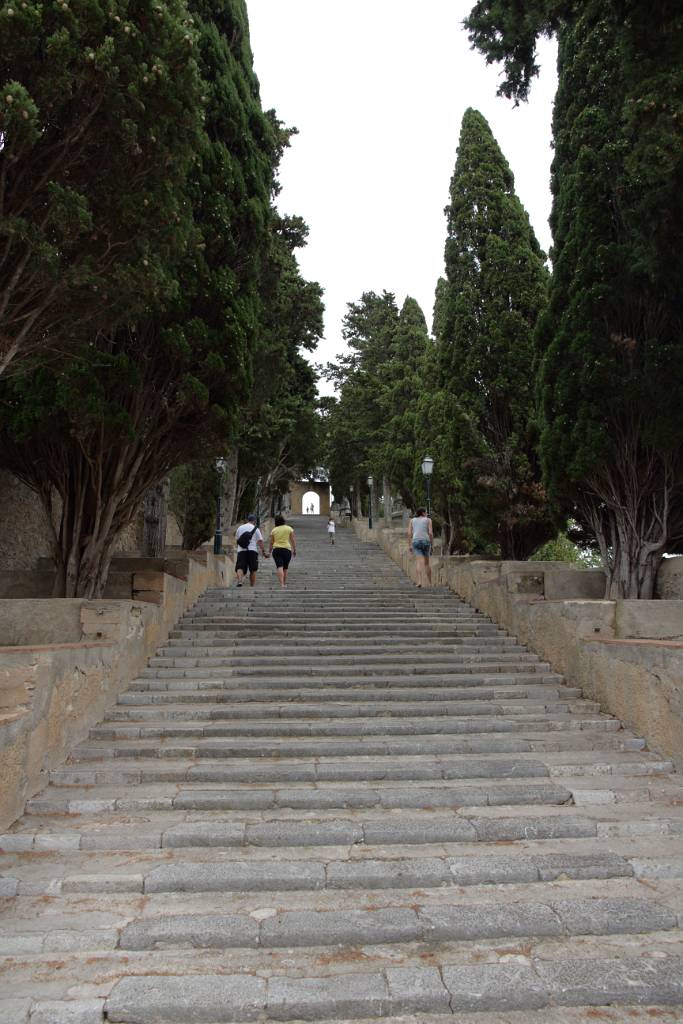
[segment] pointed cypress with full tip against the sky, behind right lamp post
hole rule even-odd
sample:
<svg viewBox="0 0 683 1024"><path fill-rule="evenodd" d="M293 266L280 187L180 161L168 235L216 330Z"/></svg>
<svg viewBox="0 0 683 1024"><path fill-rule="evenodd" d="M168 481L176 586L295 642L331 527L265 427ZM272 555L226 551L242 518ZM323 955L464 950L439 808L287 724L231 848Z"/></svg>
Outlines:
<svg viewBox="0 0 683 1024"><path fill-rule="evenodd" d="M445 408L460 422L452 471L463 482L470 526L504 558L527 558L556 532L532 426L532 336L548 272L512 171L471 109L446 214L438 357Z"/></svg>

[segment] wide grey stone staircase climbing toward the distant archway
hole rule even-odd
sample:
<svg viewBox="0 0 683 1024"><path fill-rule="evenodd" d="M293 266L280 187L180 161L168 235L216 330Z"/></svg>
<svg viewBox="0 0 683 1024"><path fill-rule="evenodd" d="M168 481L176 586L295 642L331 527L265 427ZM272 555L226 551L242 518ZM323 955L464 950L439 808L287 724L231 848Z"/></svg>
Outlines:
<svg viewBox="0 0 683 1024"><path fill-rule="evenodd" d="M683 1020L672 765L294 521L0 837L0 1024Z"/></svg>

